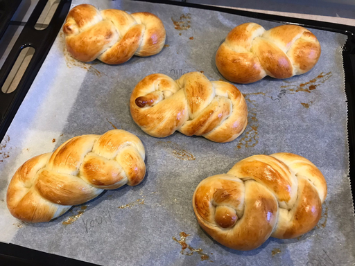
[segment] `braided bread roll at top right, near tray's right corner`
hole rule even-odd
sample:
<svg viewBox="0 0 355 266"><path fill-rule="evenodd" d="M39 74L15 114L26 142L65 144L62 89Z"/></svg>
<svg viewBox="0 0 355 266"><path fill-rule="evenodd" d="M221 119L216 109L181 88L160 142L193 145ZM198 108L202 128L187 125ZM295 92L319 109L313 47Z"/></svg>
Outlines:
<svg viewBox="0 0 355 266"><path fill-rule="evenodd" d="M236 26L216 53L227 80L252 83L265 76L291 78L311 70L320 57L318 39L306 28L282 25L268 31L255 23Z"/></svg>

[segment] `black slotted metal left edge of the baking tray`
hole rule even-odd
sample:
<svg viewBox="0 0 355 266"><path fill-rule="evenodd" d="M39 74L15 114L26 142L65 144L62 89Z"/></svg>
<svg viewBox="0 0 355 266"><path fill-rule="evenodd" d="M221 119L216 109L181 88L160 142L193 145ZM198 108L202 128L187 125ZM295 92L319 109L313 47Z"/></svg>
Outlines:
<svg viewBox="0 0 355 266"><path fill-rule="evenodd" d="M3 136L8 130L8 127L10 126L17 109L19 109L22 100L24 100L28 89L30 89L33 80L35 80L46 55L49 53L55 37L57 37L64 19L67 17L71 0L61 0L51 19L51 23L49 23L44 30L36 30L35 24L42 14L46 3L47 0L38 1L37 6L28 18L26 25L21 31L15 45L0 69L1 88L22 49L26 47L35 48L35 53L31 58L26 71L24 72L24 76L22 76L19 81L17 89L10 94L5 94L0 89L0 141L3 139Z"/></svg>

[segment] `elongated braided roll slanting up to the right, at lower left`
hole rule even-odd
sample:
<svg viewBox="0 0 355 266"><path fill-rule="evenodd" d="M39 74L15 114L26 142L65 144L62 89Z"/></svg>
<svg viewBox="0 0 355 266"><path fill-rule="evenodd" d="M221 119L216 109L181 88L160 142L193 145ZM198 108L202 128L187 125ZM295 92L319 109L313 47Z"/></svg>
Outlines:
<svg viewBox="0 0 355 266"><path fill-rule="evenodd" d="M19 220L48 222L104 189L139 184L146 175L145 156L137 136L124 130L76 136L15 172L8 186L8 209Z"/></svg>

